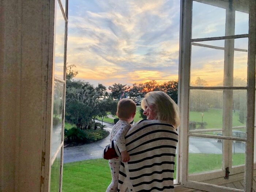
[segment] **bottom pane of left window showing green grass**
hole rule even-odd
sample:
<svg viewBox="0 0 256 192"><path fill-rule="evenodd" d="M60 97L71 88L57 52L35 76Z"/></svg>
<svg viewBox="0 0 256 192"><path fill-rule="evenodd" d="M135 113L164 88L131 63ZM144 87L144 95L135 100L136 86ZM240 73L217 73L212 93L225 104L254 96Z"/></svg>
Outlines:
<svg viewBox="0 0 256 192"><path fill-rule="evenodd" d="M57 157L52 164L50 192L60 191L60 162L61 162L61 150L57 154Z"/></svg>

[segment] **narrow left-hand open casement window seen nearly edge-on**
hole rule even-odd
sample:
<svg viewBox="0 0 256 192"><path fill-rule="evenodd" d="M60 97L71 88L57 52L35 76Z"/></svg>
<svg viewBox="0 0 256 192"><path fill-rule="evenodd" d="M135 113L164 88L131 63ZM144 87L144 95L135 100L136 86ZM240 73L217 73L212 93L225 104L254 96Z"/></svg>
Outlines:
<svg viewBox="0 0 256 192"><path fill-rule="evenodd" d="M52 127L50 138L49 191L61 191L65 117L68 0L55 1Z"/></svg>

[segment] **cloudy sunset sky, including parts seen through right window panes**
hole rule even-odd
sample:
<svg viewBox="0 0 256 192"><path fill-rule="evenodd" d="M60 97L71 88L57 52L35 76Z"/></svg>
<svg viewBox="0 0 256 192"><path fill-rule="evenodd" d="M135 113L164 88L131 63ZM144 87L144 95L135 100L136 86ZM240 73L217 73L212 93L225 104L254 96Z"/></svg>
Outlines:
<svg viewBox="0 0 256 192"><path fill-rule="evenodd" d="M76 65L75 79L106 87L178 79L180 0L72 0L68 13L67 63ZM192 38L224 36L225 10L194 1L192 23ZM248 14L236 11L235 34L244 33ZM247 38L235 40L235 48L247 46ZM223 50L192 45L191 83L200 76L221 84L223 66ZM246 78L247 52L235 51L234 76Z"/></svg>

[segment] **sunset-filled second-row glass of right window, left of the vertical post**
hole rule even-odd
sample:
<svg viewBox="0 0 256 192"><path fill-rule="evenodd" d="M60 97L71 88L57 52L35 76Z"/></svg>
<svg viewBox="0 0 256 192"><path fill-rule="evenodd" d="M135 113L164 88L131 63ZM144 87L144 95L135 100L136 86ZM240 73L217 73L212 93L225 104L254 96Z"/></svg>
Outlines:
<svg viewBox="0 0 256 192"><path fill-rule="evenodd" d="M199 42L205 44L204 42ZM211 44L223 47L225 41ZM203 46L191 46L191 86L222 86L224 74L224 50Z"/></svg>

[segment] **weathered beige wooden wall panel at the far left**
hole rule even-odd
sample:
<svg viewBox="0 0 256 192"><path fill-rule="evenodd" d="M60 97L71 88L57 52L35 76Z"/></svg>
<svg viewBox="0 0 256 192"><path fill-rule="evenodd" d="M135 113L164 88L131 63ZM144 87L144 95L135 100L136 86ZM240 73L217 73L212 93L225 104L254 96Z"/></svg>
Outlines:
<svg viewBox="0 0 256 192"><path fill-rule="evenodd" d="M0 191L48 189L53 13L54 0L1 1Z"/></svg>

